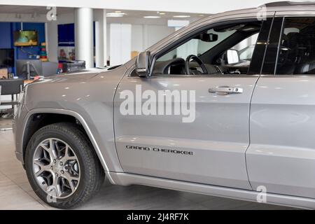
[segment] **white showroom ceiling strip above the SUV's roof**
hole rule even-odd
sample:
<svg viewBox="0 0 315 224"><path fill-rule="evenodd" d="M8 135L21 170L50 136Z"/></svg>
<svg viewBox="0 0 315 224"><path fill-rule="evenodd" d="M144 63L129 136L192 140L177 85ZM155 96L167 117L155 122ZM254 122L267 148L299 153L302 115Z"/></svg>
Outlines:
<svg viewBox="0 0 315 224"><path fill-rule="evenodd" d="M62 6L74 8L114 8L125 10L163 10L184 13L221 13L251 8L272 0L0 0L0 5Z"/></svg>

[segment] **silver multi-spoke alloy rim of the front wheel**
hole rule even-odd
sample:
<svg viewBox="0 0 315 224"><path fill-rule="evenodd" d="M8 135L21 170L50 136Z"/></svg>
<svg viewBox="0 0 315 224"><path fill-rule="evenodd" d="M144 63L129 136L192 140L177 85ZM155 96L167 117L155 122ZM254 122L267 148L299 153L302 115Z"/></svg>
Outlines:
<svg viewBox="0 0 315 224"><path fill-rule="evenodd" d="M73 149L60 139L45 139L33 157L33 172L45 193L56 198L70 197L80 183L80 164Z"/></svg>

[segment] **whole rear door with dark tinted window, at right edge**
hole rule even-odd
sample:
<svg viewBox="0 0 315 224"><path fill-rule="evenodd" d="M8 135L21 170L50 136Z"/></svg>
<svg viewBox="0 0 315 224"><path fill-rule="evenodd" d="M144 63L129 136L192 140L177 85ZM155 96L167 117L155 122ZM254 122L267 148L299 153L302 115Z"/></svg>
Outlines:
<svg viewBox="0 0 315 224"><path fill-rule="evenodd" d="M315 198L315 17L275 20L251 102L248 177L254 189Z"/></svg>

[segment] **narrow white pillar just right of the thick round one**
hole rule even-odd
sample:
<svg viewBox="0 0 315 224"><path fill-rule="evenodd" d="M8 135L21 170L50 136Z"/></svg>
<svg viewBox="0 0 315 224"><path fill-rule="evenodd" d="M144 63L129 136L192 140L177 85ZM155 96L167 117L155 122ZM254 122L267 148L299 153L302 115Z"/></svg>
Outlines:
<svg viewBox="0 0 315 224"><path fill-rule="evenodd" d="M94 9L95 20L95 65L104 67L107 59L106 9Z"/></svg>

